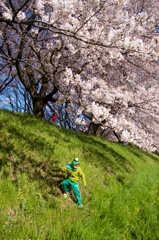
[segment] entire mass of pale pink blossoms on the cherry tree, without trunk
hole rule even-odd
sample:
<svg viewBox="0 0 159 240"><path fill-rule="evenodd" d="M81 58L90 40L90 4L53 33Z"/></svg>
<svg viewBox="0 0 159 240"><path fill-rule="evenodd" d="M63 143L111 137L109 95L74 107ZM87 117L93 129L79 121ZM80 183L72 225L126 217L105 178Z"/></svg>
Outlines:
<svg viewBox="0 0 159 240"><path fill-rule="evenodd" d="M28 23L26 8L14 15L6 3L0 2L1 19L12 21L14 16L15 24ZM155 119L157 130L159 81L151 81L155 78L153 69L149 74L146 64L156 63L158 68L159 36L155 27L159 16L153 6L152 11L135 12L139 3L135 5L129 0L29 1L29 11L32 10L35 17L29 34L33 39L41 39L44 28L46 36L45 41L37 45L35 39L27 43L42 61L41 64L33 61L39 74L37 79L45 69L48 81L52 77L61 91L57 103L70 102L69 112L74 108L72 103L79 106L74 109L76 115L80 115L76 124L88 127L88 121L82 118L85 110L94 124L111 128L121 141L154 151L156 139L151 119ZM138 64L140 68L136 70ZM119 74L119 68L126 74ZM149 76L148 83L146 76ZM113 81L118 84L113 85Z"/></svg>

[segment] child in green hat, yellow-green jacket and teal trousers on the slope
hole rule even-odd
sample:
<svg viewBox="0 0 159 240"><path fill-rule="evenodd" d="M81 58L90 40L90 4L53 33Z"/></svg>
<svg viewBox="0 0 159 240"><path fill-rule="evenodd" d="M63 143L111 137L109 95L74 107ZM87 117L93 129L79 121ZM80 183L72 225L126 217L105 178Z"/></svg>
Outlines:
<svg viewBox="0 0 159 240"><path fill-rule="evenodd" d="M81 177L83 184L86 187L86 180L85 180L85 175L82 169L79 167L79 165L80 165L79 159L75 158L71 164L68 164L66 167L58 168L56 170L67 173L67 179L62 181L64 198L67 198L68 189L71 186L77 200L77 205L82 207L81 193L79 191L78 181L79 181L79 177Z"/></svg>

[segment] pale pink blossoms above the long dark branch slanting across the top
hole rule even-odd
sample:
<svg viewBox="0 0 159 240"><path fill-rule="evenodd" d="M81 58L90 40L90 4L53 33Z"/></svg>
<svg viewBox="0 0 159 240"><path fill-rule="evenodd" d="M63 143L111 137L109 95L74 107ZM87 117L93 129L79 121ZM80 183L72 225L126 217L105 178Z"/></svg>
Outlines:
<svg viewBox="0 0 159 240"><path fill-rule="evenodd" d="M32 2L33 4L33 2ZM103 5L101 5L103 4ZM0 5L4 8L3 17L11 20L11 9L7 8L5 1ZM53 11L45 11L45 6L50 6ZM42 22L64 32L69 31L86 42L97 42L109 48L109 58L123 60L121 52L129 50L133 55L143 59L159 59L159 51L156 49L159 37L144 40L147 31L154 31L157 16L152 13L139 12L130 15L129 0L116 1L82 1L82 0L36 0L33 4L35 12L41 15ZM19 21L24 20L25 13L17 14ZM89 21L88 21L89 20ZM71 46L71 45L70 45ZM113 47L112 47L113 46ZM72 51L75 49L71 46Z"/></svg>

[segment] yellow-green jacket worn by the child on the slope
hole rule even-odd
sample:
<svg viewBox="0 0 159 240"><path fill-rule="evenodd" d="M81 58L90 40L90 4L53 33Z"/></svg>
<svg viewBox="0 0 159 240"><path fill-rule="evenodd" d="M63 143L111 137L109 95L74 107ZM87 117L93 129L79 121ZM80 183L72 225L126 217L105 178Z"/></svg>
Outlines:
<svg viewBox="0 0 159 240"><path fill-rule="evenodd" d="M79 178L82 178L83 185L86 186L85 175L80 167L77 169L72 168L71 164L68 164L66 167L61 167L58 170L61 172L67 173L67 178L72 182L78 182Z"/></svg>

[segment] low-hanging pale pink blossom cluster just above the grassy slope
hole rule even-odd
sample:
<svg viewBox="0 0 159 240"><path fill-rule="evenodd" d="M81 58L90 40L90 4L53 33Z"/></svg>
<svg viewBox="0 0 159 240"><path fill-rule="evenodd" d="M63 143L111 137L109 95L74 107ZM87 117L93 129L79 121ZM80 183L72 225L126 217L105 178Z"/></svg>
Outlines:
<svg viewBox="0 0 159 240"><path fill-rule="evenodd" d="M95 85L100 81L100 87L95 88ZM136 116L137 112L135 107L129 107L129 102L131 101L132 106L143 106L147 108L149 114L153 114L150 108L156 110L159 113L158 103L159 103L159 86L154 91L154 86L146 90L142 86L138 86L136 93L123 91L122 87L116 89L110 88L103 80L93 78L84 82L80 79L80 76L73 76L71 69L66 69L64 84L69 85L74 83L74 85L80 85L82 89L82 103L77 112L77 115L82 113L83 109L86 109L88 113L93 116L92 122L95 124L102 124L102 128L111 127L116 133L119 134L121 141L133 142L136 146L148 150L155 151L154 138L153 135L145 131L140 121L134 121L140 115ZM115 94L116 92L116 94ZM111 106L114 106L116 99L117 103L121 103L122 109L117 114L111 113ZM100 103L104 102L104 105ZM102 123L104 121L104 123ZM77 118L76 124L85 124L87 128L87 121Z"/></svg>

